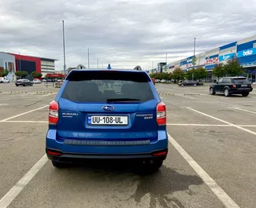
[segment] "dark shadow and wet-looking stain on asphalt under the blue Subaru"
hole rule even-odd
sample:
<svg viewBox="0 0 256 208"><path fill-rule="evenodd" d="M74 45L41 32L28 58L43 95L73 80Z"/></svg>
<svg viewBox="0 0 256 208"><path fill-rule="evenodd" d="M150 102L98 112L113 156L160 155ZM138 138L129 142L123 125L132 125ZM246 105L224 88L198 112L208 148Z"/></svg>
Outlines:
<svg viewBox="0 0 256 208"><path fill-rule="evenodd" d="M108 186L118 184L119 188L127 189L135 185L135 192L125 200L134 199L135 203L141 203L143 197L148 194L150 208L158 207L158 203L161 207L184 208L184 204L179 199L170 195L180 191L193 195L194 192L190 190L190 186L203 184L202 179L197 175L181 174L164 165L153 173L129 162L92 161L69 166L69 173L72 172L75 172L72 179L79 181L84 173L89 174L89 179L95 181L95 186L102 183Z"/></svg>

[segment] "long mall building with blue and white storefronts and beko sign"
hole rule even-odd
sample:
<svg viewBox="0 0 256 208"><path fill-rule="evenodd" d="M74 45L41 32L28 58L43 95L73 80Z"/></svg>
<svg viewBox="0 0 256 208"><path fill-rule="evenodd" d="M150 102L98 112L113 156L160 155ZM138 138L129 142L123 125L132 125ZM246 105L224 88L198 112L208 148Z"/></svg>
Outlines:
<svg viewBox="0 0 256 208"><path fill-rule="evenodd" d="M250 38L245 38L237 42L231 42L227 45L210 49L206 52L195 55L195 68L202 66L208 71L208 79L212 80L212 71L215 64L227 63L228 60L237 57L239 64L243 66L248 78L255 78L256 72L256 35ZM184 71L193 68L192 57L187 57L182 60L174 61L167 64L167 71L172 72L175 68L180 67ZM158 68L152 69L150 73L162 72L163 67L158 64Z"/></svg>

